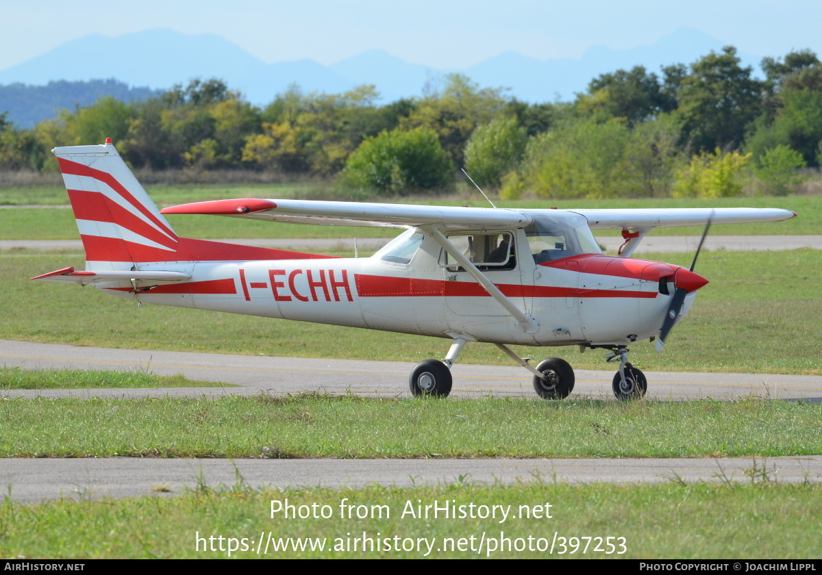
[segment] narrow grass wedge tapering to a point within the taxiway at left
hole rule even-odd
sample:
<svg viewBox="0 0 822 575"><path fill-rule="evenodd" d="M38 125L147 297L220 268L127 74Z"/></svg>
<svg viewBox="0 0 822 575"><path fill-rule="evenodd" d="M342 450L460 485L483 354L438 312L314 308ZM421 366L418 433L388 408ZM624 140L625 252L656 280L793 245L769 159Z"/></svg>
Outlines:
<svg viewBox="0 0 822 575"><path fill-rule="evenodd" d="M234 384L189 380L182 374L150 371L23 370L0 367L3 389L233 388Z"/></svg>

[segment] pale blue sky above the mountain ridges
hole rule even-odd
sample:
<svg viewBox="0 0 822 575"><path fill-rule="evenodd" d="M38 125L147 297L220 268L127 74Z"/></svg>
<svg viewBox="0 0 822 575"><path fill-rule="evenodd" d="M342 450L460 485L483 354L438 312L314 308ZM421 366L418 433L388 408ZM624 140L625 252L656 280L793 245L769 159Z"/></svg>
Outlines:
<svg viewBox="0 0 822 575"><path fill-rule="evenodd" d="M804 0L0 0L0 70L87 34L151 28L229 39L264 62L338 62L381 48L413 63L463 68L513 50L580 57L596 45L633 48L686 26L742 53L822 53L822 2Z"/></svg>

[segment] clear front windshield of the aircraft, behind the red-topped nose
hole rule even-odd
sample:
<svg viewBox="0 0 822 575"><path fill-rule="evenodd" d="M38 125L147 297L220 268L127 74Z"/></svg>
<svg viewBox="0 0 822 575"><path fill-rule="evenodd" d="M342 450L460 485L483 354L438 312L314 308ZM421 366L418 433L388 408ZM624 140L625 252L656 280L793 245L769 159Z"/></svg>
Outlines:
<svg viewBox="0 0 822 575"><path fill-rule="evenodd" d="M570 255L603 253L583 216L568 212L562 212L561 216L535 212L529 212L529 215L533 223L525 228L525 236L535 263L543 264Z"/></svg>

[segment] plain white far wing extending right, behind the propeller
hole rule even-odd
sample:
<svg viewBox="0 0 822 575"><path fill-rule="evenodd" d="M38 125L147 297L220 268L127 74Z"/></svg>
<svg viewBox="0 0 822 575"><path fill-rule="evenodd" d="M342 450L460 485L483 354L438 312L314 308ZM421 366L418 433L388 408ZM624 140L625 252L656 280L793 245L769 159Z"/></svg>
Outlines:
<svg viewBox="0 0 822 575"><path fill-rule="evenodd" d="M528 213L530 210L523 210ZM777 208L663 208L663 209L573 209L588 219L593 229L650 230L711 223L781 222L796 217L789 209Z"/></svg>

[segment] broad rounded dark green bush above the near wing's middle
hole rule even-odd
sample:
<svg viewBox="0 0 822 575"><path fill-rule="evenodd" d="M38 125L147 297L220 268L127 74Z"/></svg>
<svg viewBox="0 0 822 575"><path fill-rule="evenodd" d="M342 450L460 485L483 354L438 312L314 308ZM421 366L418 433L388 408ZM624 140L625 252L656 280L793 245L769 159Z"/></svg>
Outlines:
<svg viewBox="0 0 822 575"><path fill-rule="evenodd" d="M383 194L441 191L450 187L454 164L442 150L434 131L383 131L368 138L348 159L343 181Z"/></svg>

